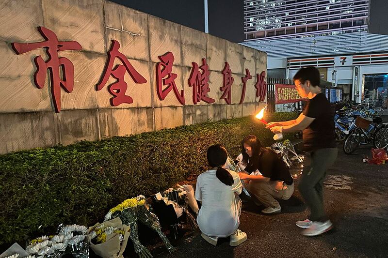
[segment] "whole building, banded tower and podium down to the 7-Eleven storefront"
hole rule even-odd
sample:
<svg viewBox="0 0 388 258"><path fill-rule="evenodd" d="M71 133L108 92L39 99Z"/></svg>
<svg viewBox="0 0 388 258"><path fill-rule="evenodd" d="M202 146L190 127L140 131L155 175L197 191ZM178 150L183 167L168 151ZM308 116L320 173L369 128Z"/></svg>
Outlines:
<svg viewBox="0 0 388 258"><path fill-rule="evenodd" d="M244 0L242 43L267 53L267 76L316 66L344 97L387 108L388 36L368 33L370 0Z"/></svg>

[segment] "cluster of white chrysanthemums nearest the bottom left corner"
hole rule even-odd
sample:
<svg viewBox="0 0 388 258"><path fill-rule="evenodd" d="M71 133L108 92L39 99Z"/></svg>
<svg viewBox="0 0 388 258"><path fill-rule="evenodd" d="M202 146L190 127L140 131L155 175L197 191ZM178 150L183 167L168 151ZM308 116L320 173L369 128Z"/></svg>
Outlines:
<svg viewBox="0 0 388 258"><path fill-rule="evenodd" d="M61 257L65 252L67 243L62 236L42 236L34 239L26 248L26 252L37 258Z"/></svg>

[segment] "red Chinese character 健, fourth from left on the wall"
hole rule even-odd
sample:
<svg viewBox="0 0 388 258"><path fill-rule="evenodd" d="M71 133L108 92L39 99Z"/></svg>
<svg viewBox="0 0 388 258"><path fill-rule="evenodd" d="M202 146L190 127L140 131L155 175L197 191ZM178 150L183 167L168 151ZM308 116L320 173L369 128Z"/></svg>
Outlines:
<svg viewBox="0 0 388 258"><path fill-rule="evenodd" d="M202 70L202 73L199 71ZM202 59L202 65L198 67L196 62L193 62L193 69L189 78L189 86L193 87L193 102L197 104L201 100L206 103L213 103L215 100L208 97L209 88L209 65L206 59Z"/></svg>

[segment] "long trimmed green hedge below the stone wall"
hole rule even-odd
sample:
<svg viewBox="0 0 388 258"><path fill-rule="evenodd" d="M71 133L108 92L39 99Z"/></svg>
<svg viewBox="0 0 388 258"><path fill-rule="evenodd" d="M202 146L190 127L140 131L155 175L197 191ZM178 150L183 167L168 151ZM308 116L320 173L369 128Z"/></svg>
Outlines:
<svg viewBox="0 0 388 258"><path fill-rule="evenodd" d="M275 113L268 120L295 117ZM127 197L205 171L211 144L236 156L249 134L273 143L269 130L246 117L0 155L0 244L54 233L60 223L92 225Z"/></svg>

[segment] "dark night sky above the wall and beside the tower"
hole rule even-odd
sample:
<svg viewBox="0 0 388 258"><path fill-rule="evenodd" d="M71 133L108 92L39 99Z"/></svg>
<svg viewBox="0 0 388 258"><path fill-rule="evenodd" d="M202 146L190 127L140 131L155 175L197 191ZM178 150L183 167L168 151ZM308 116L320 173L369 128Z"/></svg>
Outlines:
<svg viewBox="0 0 388 258"><path fill-rule="evenodd" d="M204 31L203 0L111 0L141 12ZM208 0L209 33L232 42L245 39L242 0ZM369 32L388 35L388 0L371 0Z"/></svg>

